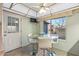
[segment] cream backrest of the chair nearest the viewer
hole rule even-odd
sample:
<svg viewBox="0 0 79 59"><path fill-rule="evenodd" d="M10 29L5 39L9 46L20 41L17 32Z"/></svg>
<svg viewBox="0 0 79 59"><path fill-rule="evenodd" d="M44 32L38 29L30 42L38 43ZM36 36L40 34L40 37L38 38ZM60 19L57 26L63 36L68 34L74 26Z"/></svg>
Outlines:
<svg viewBox="0 0 79 59"><path fill-rule="evenodd" d="M39 39L38 40L39 48L52 48L51 40L49 39Z"/></svg>

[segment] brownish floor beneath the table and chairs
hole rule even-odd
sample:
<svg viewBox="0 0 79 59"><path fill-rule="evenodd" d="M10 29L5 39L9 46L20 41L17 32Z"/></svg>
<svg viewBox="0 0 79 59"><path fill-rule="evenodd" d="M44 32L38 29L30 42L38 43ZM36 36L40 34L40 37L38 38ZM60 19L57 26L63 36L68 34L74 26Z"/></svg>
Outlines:
<svg viewBox="0 0 79 59"><path fill-rule="evenodd" d="M56 48L53 48L53 51L55 51L56 56L66 56L65 51ZM32 56L32 45L6 52L5 56ZM43 56L43 51L41 49L38 49L38 53L36 54L36 56Z"/></svg>

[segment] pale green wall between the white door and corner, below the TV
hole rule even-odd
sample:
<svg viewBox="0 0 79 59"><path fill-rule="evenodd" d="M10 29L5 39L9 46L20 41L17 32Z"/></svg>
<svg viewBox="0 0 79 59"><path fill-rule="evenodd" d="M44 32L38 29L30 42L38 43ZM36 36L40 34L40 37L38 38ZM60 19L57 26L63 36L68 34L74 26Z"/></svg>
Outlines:
<svg viewBox="0 0 79 59"><path fill-rule="evenodd" d="M30 22L29 18L22 18L22 46L29 44L28 34L32 33L34 35L39 34L39 23Z"/></svg>

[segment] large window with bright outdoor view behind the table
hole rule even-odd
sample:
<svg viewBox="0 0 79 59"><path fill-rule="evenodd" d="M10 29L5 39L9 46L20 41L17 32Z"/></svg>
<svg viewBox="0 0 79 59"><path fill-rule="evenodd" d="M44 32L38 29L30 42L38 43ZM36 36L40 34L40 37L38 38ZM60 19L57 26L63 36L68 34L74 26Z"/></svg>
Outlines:
<svg viewBox="0 0 79 59"><path fill-rule="evenodd" d="M66 30L66 17L61 17L57 19L51 19L47 21L48 25L48 33L49 34L57 34L59 39L65 39L65 30Z"/></svg>

